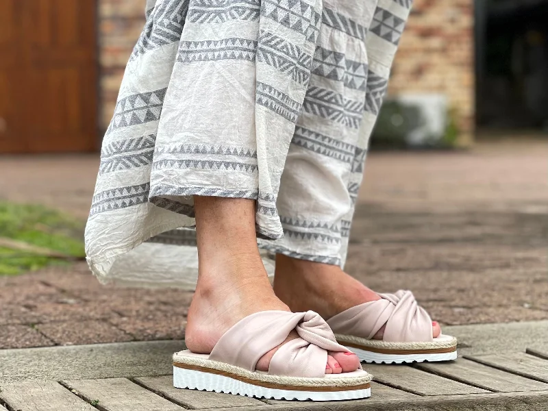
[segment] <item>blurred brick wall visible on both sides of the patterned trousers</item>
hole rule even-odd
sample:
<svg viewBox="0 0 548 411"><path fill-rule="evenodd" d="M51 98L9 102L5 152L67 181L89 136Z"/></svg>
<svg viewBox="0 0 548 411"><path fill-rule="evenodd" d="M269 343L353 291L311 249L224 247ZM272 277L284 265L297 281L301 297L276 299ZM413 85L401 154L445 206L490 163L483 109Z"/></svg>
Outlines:
<svg viewBox="0 0 548 411"><path fill-rule="evenodd" d="M103 129L110 122L125 64L145 23L144 9L144 0L99 0ZM465 143L473 133L473 90L473 0L414 0L388 92L447 95Z"/></svg>

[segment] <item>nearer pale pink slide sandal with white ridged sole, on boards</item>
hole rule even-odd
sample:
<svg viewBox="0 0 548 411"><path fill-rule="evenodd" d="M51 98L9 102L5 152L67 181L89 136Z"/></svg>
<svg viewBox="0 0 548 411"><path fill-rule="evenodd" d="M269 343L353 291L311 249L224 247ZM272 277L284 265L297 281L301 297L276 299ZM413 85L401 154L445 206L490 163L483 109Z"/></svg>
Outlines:
<svg viewBox="0 0 548 411"><path fill-rule="evenodd" d="M258 360L295 329L299 338L274 354L268 372ZM362 369L325 374L327 351L349 350L336 342L316 312L262 311L230 328L207 354L173 354L173 386L267 399L338 401L371 395L372 376Z"/></svg>

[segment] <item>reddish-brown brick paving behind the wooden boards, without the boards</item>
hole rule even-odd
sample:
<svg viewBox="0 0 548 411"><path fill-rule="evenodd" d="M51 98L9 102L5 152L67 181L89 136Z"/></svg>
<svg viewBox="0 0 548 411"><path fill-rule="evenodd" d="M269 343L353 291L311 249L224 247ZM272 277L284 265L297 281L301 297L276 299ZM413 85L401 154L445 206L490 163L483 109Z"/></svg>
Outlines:
<svg viewBox="0 0 548 411"><path fill-rule="evenodd" d="M347 271L443 325L548 319L548 147L373 153ZM18 173L14 173L14 165ZM0 196L85 218L96 156L0 158ZM85 263L0 277L0 348L184 337L192 295L103 287Z"/></svg>

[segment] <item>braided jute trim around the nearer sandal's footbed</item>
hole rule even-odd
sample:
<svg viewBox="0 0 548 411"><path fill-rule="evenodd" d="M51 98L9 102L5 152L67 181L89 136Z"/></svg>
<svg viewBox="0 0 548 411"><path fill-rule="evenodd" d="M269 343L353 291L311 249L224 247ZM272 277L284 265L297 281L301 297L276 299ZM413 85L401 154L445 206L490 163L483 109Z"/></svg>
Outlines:
<svg viewBox="0 0 548 411"><path fill-rule="evenodd" d="M340 377L329 378L305 378L305 377L286 377L284 375L270 375L266 373L260 373L258 371L249 371L242 369L239 366L227 364L225 362L219 362L214 360L208 360L206 358L184 356L179 353L173 354L173 364L177 366L177 363L190 364L193 366L200 366L206 369L216 369L223 371L224 373L238 375L246 379L253 379L259 382L279 384L284 386L302 386L302 387L353 387L369 384L373 375L366 374L362 377L345 377L345 374L340 374Z"/></svg>

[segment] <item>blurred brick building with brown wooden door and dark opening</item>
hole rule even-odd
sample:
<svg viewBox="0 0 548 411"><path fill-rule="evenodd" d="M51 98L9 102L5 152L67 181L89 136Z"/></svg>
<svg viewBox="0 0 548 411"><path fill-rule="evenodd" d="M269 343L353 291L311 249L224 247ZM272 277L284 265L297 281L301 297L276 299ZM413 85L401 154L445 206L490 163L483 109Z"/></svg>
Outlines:
<svg viewBox="0 0 548 411"><path fill-rule="evenodd" d="M97 151L143 1L0 0L0 154ZM373 147L548 133L548 1L416 0Z"/></svg>

